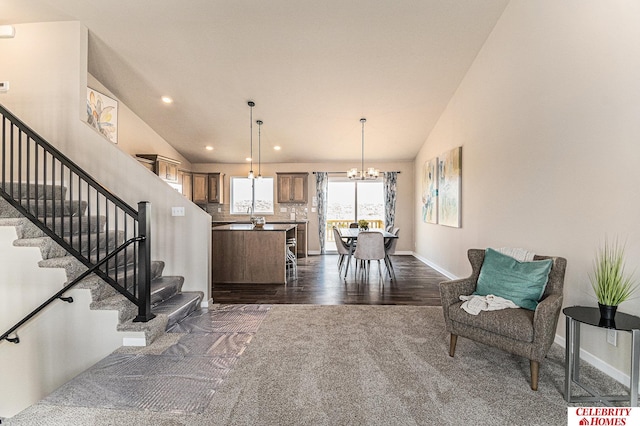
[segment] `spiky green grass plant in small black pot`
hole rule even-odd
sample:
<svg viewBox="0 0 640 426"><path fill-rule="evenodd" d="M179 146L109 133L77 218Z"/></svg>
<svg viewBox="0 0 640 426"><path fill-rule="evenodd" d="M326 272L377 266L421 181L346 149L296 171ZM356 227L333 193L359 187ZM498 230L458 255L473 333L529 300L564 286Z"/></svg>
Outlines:
<svg viewBox="0 0 640 426"><path fill-rule="evenodd" d="M625 271L624 245L617 239L611 244L605 239L604 246L596 254L589 279L598 299L600 316L605 320L612 320L618 305L638 290L633 273Z"/></svg>

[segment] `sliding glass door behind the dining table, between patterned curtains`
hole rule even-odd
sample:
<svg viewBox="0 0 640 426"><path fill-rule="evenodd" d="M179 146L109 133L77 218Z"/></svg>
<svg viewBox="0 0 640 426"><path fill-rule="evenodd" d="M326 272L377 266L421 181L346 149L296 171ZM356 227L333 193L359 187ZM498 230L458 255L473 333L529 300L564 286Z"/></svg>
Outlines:
<svg viewBox="0 0 640 426"><path fill-rule="evenodd" d="M332 228L348 228L364 219L370 228L384 228L384 192L382 180L329 178L327 193L327 233L325 247L335 251Z"/></svg>

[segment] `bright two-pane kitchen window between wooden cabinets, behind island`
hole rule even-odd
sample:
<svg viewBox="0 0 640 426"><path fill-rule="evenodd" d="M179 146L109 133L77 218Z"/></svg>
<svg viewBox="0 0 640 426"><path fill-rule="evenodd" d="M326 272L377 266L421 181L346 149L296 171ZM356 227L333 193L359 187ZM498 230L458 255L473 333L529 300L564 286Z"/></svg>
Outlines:
<svg viewBox="0 0 640 426"><path fill-rule="evenodd" d="M256 208L254 214L273 214L273 178L231 178L231 214L251 213L251 191L255 185Z"/></svg>

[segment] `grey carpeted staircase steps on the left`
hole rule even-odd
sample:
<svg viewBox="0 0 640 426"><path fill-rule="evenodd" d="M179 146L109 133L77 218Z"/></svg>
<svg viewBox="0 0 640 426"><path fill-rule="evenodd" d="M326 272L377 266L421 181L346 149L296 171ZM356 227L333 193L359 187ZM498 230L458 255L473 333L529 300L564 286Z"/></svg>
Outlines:
<svg viewBox="0 0 640 426"><path fill-rule="evenodd" d="M35 216L46 216L57 222L52 227L60 229L62 237L76 250L88 253L91 260L102 259L105 253L121 245L125 239L122 230L106 229L107 217L90 215L87 203L67 200L67 189L56 185L13 184L14 194L22 194L20 204ZM0 188L2 190L2 188ZM56 195L57 194L57 195ZM36 197L37 195L37 197ZM41 220L44 220L41 219ZM21 247L38 247L42 253L42 268L63 268L67 280L72 281L87 270L76 257L48 237L40 227L22 215L8 201L0 197L0 226L14 226L18 240L13 244ZM95 231L89 238L81 238L80 232ZM125 251L107 263L108 274L117 276L117 282L133 282L135 252ZM182 292L183 277L163 276L164 262L151 262L151 312L156 315L147 322L133 322L138 307L127 297L116 291L102 278L91 274L78 283L76 288L91 291L91 309L118 311L118 331L144 332L146 344L150 344L166 329L181 321L200 307L202 292ZM26 314L26 313L25 313Z"/></svg>

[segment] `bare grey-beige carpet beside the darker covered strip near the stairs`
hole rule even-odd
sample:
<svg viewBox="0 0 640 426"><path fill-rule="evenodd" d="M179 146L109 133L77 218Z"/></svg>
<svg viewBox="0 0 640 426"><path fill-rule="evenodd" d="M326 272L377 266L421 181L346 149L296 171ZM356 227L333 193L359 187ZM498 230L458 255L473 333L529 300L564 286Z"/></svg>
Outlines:
<svg viewBox="0 0 640 426"><path fill-rule="evenodd" d="M8 424L566 425L560 348L537 392L527 360L462 338L447 353L439 307L275 305L202 414L38 404Z"/></svg>

